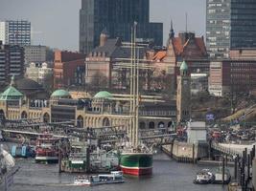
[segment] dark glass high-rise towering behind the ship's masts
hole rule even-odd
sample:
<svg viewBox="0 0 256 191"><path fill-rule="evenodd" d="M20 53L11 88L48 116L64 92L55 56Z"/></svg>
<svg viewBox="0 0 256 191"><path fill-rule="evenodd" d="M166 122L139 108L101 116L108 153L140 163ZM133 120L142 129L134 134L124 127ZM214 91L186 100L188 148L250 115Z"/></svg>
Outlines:
<svg viewBox="0 0 256 191"><path fill-rule="evenodd" d="M104 30L110 38L130 41L134 21L137 38L162 46L163 24L150 22L150 0L81 0L80 52L99 46Z"/></svg>

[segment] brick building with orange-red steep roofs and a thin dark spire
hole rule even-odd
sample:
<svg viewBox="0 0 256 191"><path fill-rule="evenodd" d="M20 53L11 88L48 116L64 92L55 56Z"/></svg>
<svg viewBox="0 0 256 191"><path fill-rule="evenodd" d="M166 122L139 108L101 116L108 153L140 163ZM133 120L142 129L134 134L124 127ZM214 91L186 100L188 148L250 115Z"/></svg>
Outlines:
<svg viewBox="0 0 256 191"><path fill-rule="evenodd" d="M191 74L209 74L209 59L203 37L196 37L193 32L180 32L175 36L172 25L167 48L156 52L152 61L157 69L155 75L159 72L170 75L174 91L183 60L186 60Z"/></svg>

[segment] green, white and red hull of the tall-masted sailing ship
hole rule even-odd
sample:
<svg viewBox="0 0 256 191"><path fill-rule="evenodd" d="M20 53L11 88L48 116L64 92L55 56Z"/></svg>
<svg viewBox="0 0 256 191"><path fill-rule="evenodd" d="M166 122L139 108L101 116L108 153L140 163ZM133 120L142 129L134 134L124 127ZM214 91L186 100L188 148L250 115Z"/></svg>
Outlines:
<svg viewBox="0 0 256 191"><path fill-rule="evenodd" d="M145 176L152 174L152 153L123 152L120 158L120 167L124 174Z"/></svg>

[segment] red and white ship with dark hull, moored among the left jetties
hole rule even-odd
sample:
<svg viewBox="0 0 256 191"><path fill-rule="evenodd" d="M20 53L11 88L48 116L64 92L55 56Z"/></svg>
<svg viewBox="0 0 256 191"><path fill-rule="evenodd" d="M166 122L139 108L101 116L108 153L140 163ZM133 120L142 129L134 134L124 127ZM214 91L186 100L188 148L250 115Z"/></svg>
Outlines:
<svg viewBox="0 0 256 191"><path fill-rule="evenodd" d="M58 163L58 138L41 135L36 139L35 162Z"/></svg>

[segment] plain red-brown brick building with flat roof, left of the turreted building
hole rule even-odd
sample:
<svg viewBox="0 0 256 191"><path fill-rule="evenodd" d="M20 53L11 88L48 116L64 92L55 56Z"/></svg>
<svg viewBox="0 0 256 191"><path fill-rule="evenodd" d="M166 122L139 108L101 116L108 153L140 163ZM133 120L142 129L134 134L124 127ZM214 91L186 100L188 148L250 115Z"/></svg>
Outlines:
<svg viewBox="0 0 256 191"><path fill-rule="evenodd" d="M54 86L68 87L84 84L85 54L72 52L55 52Z"/></svg>

